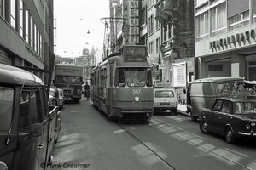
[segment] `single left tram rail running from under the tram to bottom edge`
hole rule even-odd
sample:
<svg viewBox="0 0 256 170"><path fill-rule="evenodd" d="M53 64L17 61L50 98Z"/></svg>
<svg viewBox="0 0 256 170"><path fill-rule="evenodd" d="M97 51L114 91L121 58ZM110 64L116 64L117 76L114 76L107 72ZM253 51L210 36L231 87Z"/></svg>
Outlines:
<svg viewBox="0 0 256 170"><path fill-rule="evenodd" d="M162 161L164 164L166 164L166 167L170 167L170 169L176 170L174 167L172 167L172 165L169 162L167 162L158 153L156 153L154 150L152 150L147 144L144 144L142 140L138 139L134 134L132 134L128 129L126 129L120 122L115 122L115 123L117 124L118 127L120 127L122 130L124 130L125 133L127 133L129 136L131 136L131 138L136 139L137 142L139 142L140 144L143 144L145 149L147 149L150 153L152 153L154 156L156 156L158 159L160 159L160 161Z"/></svg>

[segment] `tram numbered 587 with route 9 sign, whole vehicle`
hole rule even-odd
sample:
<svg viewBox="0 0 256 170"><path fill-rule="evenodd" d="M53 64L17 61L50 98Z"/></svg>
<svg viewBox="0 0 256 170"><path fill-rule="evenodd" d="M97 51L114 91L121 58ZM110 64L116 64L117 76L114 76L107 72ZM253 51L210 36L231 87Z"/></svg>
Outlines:
<svg viewBox="0 0 256 170"><path fill-rule="evenodd" d="M153 81L147 46L125 45L91 70L94 105L108 118L150 122L153 115Z"/></svg>

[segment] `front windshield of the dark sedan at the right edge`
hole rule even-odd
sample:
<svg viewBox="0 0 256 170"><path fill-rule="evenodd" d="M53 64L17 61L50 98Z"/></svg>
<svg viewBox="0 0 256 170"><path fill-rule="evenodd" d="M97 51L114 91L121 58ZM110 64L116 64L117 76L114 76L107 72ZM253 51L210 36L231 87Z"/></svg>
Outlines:
<svg viewBox="0 0 256 170"><path fill-rule="evenodd" d="M237 102L236 114L256 114L256 103L254 102Z"/></svg>

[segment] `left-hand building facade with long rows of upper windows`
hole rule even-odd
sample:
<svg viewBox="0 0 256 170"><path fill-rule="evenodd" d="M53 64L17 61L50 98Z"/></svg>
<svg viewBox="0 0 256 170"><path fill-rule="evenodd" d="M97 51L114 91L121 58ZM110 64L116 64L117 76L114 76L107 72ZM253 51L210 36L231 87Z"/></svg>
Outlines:
<svg viewBox="0 0 256 170"><path fill-rule="evenodd" d="M0 0L0 63L49 70L53 29L53 1Z"/></svg>

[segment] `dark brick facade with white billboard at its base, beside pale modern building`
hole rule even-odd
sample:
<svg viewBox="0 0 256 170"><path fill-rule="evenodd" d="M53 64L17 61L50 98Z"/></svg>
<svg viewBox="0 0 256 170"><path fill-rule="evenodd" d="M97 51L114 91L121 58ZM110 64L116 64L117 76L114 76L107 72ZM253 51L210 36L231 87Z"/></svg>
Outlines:
<svg viewBox="0 0 256 170"><path fill-rule="evenodd" d="M155 8L154 48L159 49L160 82L171 82L177 93L194 80L194 2L189 0L149 0ZM150 8L150 7L149 7ZM150 20L150 17L149 19ZM152 22L152 21L151 21ZM157 42L157 40L159 41ZM150 44L149 44L150 49ZM152 50L152 49L151 49Z"/></svg>

